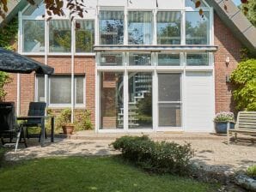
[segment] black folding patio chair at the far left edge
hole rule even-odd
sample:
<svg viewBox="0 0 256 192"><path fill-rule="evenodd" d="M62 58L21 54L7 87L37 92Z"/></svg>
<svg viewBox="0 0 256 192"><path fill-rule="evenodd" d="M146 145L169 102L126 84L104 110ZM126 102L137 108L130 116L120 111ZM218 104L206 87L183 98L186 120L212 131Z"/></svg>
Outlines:
<svg viewBox="0 0 256 192"><path fill-rule="evenodd" d="M16 121L14 102L0 102L0 137L3 145L15 144L15 152L19 142L21 142L21 137L25 147L27 147L23 127L18 125ZM14 138L16 138L16 141L12 142ZM5 139L9 139L9 141L7 142Z"/></svg>

